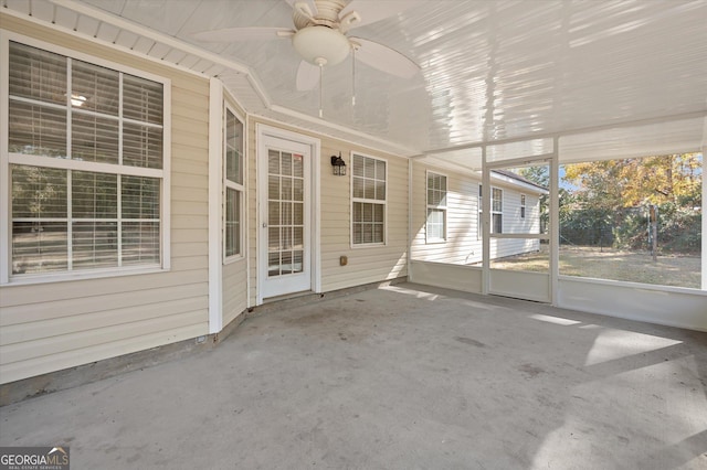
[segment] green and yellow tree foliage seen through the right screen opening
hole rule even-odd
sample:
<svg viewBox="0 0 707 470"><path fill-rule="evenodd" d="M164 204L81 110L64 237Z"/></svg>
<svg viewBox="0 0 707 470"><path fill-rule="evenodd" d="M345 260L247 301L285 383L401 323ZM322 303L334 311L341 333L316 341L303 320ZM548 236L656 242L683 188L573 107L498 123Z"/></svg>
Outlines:
<svg viewBox="0 0 707 470"><path fill-rule="evenodd" d="M650 249L648 205L658 207L658 249L699 253L700 153L564 165L562 243Z"/></svg>

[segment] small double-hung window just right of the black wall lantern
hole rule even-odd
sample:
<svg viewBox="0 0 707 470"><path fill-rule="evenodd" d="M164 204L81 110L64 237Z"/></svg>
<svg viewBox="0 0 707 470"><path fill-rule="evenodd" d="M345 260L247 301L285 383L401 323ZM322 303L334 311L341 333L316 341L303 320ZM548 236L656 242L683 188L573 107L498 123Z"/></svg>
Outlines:
<svg viewBox="0 0 707 470"><path fill-rule="evenodd" d="M386 243L386 161L354 153L351 239L354 245Z"/></svg>

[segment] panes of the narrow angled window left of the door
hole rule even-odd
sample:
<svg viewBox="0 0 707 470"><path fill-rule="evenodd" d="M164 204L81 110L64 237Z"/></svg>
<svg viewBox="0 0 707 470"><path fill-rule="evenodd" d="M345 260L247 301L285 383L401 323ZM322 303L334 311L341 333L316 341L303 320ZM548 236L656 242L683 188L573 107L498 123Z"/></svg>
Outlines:
<svg viewBox="0 0 707 470"><path fill-rule="evenodd" d="M243 254L243 122L226 108L224 137L225 256Z"/></svg>

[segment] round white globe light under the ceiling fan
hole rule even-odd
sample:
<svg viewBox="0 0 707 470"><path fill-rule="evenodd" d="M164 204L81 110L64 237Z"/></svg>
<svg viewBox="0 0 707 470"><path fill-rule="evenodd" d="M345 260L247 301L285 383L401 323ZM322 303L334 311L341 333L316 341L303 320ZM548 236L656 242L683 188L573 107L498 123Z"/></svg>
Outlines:
<svg viewBox="0 0 707 470"><path fill-rule="evenodd" d="M302 58L317 66L336 65L351 50L349 40L328 26L304 28L292 38L292 44Z"/></svg>

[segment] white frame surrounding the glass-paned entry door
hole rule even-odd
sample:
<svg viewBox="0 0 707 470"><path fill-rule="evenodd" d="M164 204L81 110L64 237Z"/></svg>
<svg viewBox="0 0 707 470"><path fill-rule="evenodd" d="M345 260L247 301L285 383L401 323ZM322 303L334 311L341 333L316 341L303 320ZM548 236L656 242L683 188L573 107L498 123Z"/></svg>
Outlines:
<svg viewBox="0 0 707 470"><path fill-rule="evenodd" d="M273 137L276 139L289 140L292 142L304 145L309 147L310 154L310 164L309 164L309 174L306 177L309 178L310 181L310 201L309 201L309 220L305 221L305 223L309 224L309 237L307 242L309 243L309 267L310 267L310 281L312 281L312 291L313 292L321 292L321 225L320 225L320 173L321 173L321 141L315 137L306 136L303 133L294 132L286 129L281 129L277 127L268 126L262 122L257 122L255 125L255 140L256 140L256 154L255 161L260 162L261 159L267 158L267 150L265 148L265 140L268 137ZM256 199L256 211L255 211L255 269L256 269L256 306L263 303L263 282L265 282L267 278L267 266L266 263L262 259L262 244L263 239L263 224L266 221L263 221L263 193L266 192L267 188L261 188L260 179L260 164L255 164L255 199Z"/></svg>

